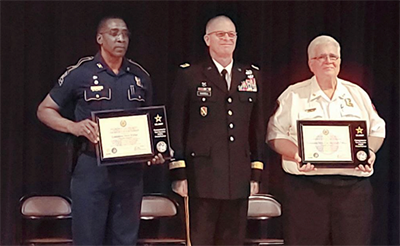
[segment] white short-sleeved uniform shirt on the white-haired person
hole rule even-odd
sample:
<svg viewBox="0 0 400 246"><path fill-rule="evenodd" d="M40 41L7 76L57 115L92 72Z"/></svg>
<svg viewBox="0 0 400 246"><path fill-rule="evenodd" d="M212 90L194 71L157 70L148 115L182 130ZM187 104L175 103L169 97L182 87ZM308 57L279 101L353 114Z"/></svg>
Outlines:
<svg viewBox="0 0 400 246"><path fill-rule="evenodd" d="M368 94L358 85L337 79L329 99L314 77L289 86L278 98L279 107L268 123L267 141L287 139L297 145L297 120L365 120L368 136L385 137L385 121L375 111ZM295 175L370 176L352 168L318 168L301 172L297 163L282 159L285 172Z"/></svg>

